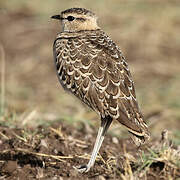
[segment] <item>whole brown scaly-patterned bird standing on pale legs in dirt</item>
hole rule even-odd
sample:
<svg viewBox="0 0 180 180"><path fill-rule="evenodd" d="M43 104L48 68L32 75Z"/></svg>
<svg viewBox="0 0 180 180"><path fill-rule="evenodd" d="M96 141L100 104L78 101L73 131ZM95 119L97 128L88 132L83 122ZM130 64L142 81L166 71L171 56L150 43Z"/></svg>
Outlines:
<svg viewBox="0 0 180 180"><path fill-rule="evenodd" d="M101 119L90 160L86 165L75 167L86 173L93 167L112 121L125 126L138 146L149 140L150 132L137 102L126 59L121 49L98 26L97 16L78 7L51 18L61 24L53 44L59 82Z"/></svg>

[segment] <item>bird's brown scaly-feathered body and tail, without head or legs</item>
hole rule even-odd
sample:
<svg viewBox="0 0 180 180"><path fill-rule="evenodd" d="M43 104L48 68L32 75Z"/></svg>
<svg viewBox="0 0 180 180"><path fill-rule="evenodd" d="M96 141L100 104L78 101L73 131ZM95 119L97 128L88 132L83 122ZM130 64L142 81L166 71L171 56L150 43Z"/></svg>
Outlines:
<svg viewBox="0 0 180 180"><path fill-rule="evenodd" d="M118 120L137 144L149 138L134 83L118 46L102 30L58 34L54 59L61 85L102 118Z"/></svg>

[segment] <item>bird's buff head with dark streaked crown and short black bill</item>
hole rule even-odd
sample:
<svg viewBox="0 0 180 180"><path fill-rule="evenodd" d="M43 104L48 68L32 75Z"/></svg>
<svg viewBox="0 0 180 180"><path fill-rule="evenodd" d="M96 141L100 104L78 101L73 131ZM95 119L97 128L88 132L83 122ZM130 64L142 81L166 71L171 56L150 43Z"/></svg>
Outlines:
<svg viewBox="0 0 180 180"><path fill-rule="evenodd" d="M96 15L84 8L67 9L51 18L60 20L63 32L99 29Z"/></svg>

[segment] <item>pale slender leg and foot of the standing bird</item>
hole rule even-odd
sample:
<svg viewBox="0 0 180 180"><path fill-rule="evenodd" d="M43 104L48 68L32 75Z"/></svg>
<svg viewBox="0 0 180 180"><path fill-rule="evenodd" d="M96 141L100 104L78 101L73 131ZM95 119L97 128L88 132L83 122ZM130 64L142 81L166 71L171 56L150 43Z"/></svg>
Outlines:
<svg viewBox="0 0 180 180"><path fill-rule="evenodd" d="M94 162L96 160L96 156L97 156L99 149L102 145L102 142L104 140L105 133L107 132L111 122L112 122L111 119L102 119L101 127L98 130L98 135L97 135L96 142L95 142L92 154L91 154L91 158L90 158L87 165L82 165L82 166L77 168L77 170L79 172L81 172L81 173L88 172L90 170L90 168L94 165Z"/></svg>

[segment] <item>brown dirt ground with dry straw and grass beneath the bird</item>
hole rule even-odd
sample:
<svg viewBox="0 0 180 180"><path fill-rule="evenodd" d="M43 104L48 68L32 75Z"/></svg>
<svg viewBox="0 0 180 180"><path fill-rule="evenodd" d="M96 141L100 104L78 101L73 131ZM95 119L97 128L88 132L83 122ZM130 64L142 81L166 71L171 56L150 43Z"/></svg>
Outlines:
<svg viewBox="0 0 180 180"><path fill-rule="evenodd" d="M89 159L96 133L87 125L79 124L75 129L58 123L25 130L1 126L0 136L0 179L180 177L180 170L174 164L178 150L170 145L166 135L141 148L135 147L130 139L107 135L95 166L86 174L77 173L73 166L85 164Z"/></svg>

